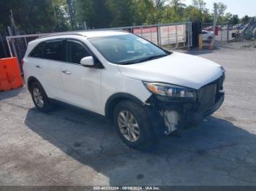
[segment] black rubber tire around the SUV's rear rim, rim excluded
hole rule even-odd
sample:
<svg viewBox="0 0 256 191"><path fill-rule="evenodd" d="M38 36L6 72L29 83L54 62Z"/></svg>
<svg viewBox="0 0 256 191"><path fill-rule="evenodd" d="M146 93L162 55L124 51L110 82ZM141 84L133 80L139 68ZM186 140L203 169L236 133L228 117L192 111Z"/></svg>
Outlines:
<svg viewBox="0 0 256 191"><path fill-rule="evenodd" d="M36 101L36 98L35 98L35 95L34 95L34 90L35 90L35 89L39 90L39 93L40 93L40 95L42 96L42 101L43 101L42 106L39 106L39 104L38 104L37 101ZM30 93L31 93L31 97L32 97L32 100L33 100L33 102L34 102L34 105L37 107L37 109L39 110L39 112L48 113L48 112L50 112L50 111L53 110L54 106L53 106L53 104L50 103L50 101L49 101L49 99L48 99L48 96L47 96L47 94L45 93L44 88L42 87L42 85L40 85L39 82L34 82L34 83L31 85Z"/></svg>

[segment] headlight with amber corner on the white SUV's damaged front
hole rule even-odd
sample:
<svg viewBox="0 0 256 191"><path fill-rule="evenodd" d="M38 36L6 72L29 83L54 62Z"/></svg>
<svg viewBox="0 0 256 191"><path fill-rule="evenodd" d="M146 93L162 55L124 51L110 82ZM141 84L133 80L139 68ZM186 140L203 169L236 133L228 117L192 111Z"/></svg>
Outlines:
<svg viewBox="0 0 256 191"><path fill-rule="evenodd" d="M196 99L195 90L178 85L170 85L159 82L143 82L146 88L156 95L168 96L172 98L192 98Z"/></svg>

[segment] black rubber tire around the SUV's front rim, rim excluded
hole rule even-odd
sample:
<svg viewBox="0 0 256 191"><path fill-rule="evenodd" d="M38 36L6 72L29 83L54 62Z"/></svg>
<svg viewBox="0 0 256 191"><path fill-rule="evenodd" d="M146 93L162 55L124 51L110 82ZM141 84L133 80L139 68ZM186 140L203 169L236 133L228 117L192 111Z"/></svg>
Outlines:
<svg viewBox="0 0 256 191"><path fill-rule="evenodd" d="M118 125L118 115L121 112L127 111L135 117L136 122L138 122L138 127L140 131L140 135L137 141L129 141L123 133L121 133L121 129ZM148 112L143 106L135 104L132 101L121 101L117 104L116 108L113 112L113 120L117 130L118 135L124 141L127 146L132 147L134 149L146 149L150 147L152 144L157 142L157 136L154 133L154 128L151 124L151 119L149 117Z"/></svg>

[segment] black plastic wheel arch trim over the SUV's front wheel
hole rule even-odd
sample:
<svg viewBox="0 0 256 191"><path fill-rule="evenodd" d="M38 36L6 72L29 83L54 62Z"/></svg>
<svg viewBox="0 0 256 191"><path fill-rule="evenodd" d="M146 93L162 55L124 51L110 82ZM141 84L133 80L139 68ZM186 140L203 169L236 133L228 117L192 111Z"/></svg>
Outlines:
<svg viewBox="0 0 256 191"><path fill-rule="evenodd" d="M136 104L143 106L143 101L129 93L115 93L108 98L105 104L105 117L109 122L113 122L113 111L118 103L121 101L134 101Z"/></svg>

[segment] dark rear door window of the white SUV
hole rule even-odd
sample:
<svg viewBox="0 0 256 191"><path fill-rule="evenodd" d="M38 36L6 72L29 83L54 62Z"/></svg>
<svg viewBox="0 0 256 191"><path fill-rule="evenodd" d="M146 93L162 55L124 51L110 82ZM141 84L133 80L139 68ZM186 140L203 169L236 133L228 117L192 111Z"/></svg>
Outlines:
<svg viewBox="0 0 256 191"><path fill-rule="evenodd" d="M43 58L53 61L66 61L64 41L57 40L45 42Z"/></svg>

